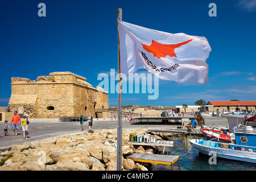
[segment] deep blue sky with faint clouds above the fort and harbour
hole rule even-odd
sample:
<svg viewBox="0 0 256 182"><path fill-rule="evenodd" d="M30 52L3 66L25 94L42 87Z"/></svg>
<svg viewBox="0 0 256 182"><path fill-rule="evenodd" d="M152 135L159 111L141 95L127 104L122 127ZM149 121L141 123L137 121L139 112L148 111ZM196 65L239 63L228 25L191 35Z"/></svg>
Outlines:
<svg viewBox="0 0 256 182"><path fill-rule="evenodd" d="M46 17L38 4L46 4ZM210 17L209 3L217 16ZM117 9L139 26L205 36L212 51L207 84L159 80L159 97L123 94L123 105L194 105L196 100L256 100L256 1L56 1L0 3L0 106L11 96L11 77L31 80L69 71L96 87L99 73L117 71ZM144 72L140 70L139 72ZM117 94L109 94L117 106Z"/></svg>

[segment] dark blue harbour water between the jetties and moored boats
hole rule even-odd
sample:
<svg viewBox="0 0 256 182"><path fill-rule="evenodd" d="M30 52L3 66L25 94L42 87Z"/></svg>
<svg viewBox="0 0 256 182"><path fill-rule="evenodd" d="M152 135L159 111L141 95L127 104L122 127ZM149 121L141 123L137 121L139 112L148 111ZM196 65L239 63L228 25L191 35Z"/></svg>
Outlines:
<svg viewBox="0 0 256 182"><path fill-rule="evenodd" d="M193 137L192 139L199 139L200 137ZM238 162L236 160L228 159L216 159L216 164L209 164L213 162L212 156L200 154L191 144L189 143L191 136L184 138L170 138L169 140L174 141L174 147L166 147L166 155L178 155L180 170L181 171L255 171L256 164ZM189 149L191 149L189 151ZM189 152L188 152L189 151ZM188 153L187 153L188 152ZM186 154L187 153L187 154ZM184 155L184 156L183 156ZM177 166L177 163L175 164ZM153 164L152 171L170 171L171 167L164 164Z"/></svg>

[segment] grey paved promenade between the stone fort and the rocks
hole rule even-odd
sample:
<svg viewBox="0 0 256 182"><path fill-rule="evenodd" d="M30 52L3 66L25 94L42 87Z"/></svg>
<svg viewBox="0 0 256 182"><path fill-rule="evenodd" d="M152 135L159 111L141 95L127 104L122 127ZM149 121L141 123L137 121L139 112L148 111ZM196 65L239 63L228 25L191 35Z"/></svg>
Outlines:
<svg viewBox="0 0 256 182"><path fill-rule="evenodd" d="M191 117L191 115L185 114L185 117ZM205 118L205 124L227 128L228 120L225 117L210 117L209 115L203 115ZM79 134L88 132L88 122L84 122L84 130L80 131L80 122L59 122L59 121L30 121L28 126L28 138L23 139L22 130L18 131L18 135L13 135L11 129L11 122L8 122L10 129L8 136L4 135L3 123L0 123L0 151L5 151L15 144L23 144L24 142L31 142L35 140L42 140L46 138L60 137L63 135ZM177 129L177 125L130 125L130 123L122 122L122 129ZM94 118L93 130L98 131L102 129L117 129L117 122L114 120L103 120Z"/></svg>

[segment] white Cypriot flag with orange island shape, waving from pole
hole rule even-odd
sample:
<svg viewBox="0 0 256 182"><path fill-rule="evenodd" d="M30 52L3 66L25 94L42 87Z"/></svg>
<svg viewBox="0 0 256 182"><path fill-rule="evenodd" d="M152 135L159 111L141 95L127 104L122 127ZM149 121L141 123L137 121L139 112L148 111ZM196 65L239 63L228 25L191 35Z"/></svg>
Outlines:
<svg viewBox="0 0 256 182"><path fill-rule="evenodd" d="M206 59L211 51L208 40L201 36L170 34L118 20L121 72L138 69L163 80L179 83L208 81Z"/></svg>

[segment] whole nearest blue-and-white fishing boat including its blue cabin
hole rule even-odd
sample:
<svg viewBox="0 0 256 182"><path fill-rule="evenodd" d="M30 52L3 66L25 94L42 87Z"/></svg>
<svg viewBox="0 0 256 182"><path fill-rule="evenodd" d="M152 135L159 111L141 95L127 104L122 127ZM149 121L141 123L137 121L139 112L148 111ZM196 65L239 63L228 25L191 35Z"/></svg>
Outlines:
<svg viewBox="0 0 256 182"><path fill-rule="evenodd" d="M253 116L234 127L235 140L231 143L204 139L191 139L189 142L202 154L216 154L217 158L256 163L255 121L256 116Z"/></svg>

